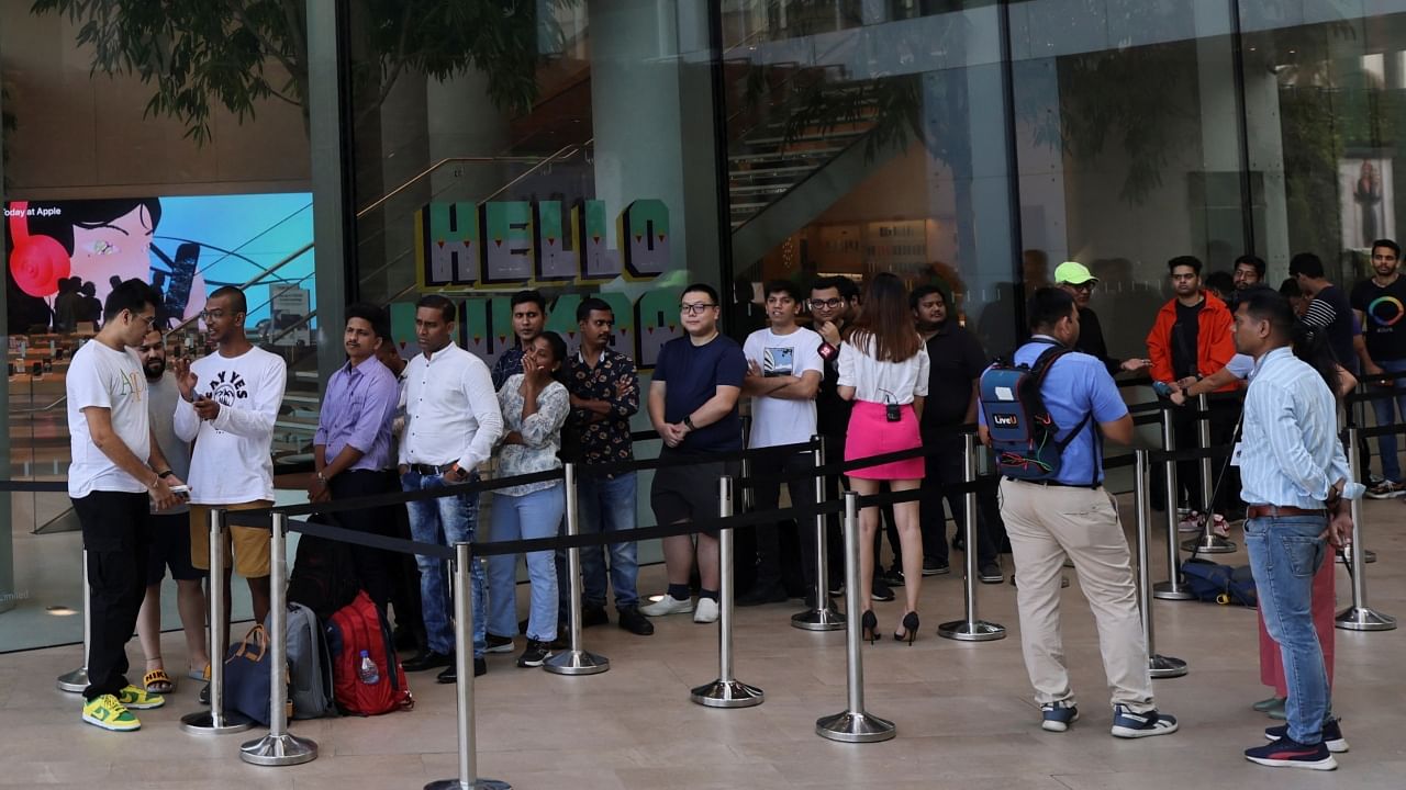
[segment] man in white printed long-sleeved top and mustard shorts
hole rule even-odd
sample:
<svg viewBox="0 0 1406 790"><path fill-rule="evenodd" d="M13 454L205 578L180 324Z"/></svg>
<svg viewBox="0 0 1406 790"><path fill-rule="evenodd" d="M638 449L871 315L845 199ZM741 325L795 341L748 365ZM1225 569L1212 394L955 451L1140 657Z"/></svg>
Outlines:
<svg viewBox="0 0 1406 790"><path fill-rule="evenodd" d="M273 425L283 403L283 357L245 336L245 294L232 285L205 301L205 330L215 353L177 360L176 436L195 441L190 458L190 552L209 569L209 510L256 510L273 505ZM231 526L225 533L225 589L233 569L249 582L256 623L269 616L269 530ZM225 597L229 633L229 596ZM221 648L222 649L222 648Z"/></svg>

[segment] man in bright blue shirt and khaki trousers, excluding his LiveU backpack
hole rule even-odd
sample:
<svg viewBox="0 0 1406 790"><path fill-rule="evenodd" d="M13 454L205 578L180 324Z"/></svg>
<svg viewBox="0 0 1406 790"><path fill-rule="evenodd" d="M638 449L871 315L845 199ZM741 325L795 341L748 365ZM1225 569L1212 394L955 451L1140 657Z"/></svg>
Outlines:
<svg viewBox="0 0 1406 790"><path fill-rule="evenodd" d="M1017 349L1017 364L1033 364L1052 343L1074 347L1078 342L1078 311L1067 292L1035 291L1026 315L1032 337ZM1054 479L1001 481L1001 516L1015 561L1021 645L1040 704L1042 727L1063 732L1078 718L1059 621L1060 568L1067 555L1098 626L1104 673L1114 689L1112 734L1146 738L1175 732L1177 720L1157 713L1153 703L1128 538L1118 520L1118 503L1102 488L1098 434L1119 444L1132 443L1132 415L1104 363L1077 351L1054 361L1040 395L1054 425L1083 426L1064 447ZM979 430L981 441L990 446L984 409Z"/></svg>

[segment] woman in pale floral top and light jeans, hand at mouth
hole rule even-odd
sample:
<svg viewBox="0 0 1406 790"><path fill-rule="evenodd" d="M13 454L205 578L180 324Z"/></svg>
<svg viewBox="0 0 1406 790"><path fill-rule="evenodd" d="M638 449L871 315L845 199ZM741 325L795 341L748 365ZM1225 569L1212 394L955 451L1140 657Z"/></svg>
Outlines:
<svg viewBox="0 0 1406 790"><path fill-rule="evenodd" d="M512 375L498 391L503 412L503 440L498 454L501 477L544 472L561 467L561 426L571 410L571 396L557 377L567 358L567 343L555 332L544 332L523 349L523 373ZM494 499L495 541L553 537L567 500L561 481L544 481L502 488ZM517 555L488 558L489 649L512 649L517 633ZM541 666L557 638L557 566L553 551L527 552L531 582L531 614L527 619L527 648L517 666ZM496 637L496 638L495 638ZM506 648L506 649L503 649Z"/></svg>

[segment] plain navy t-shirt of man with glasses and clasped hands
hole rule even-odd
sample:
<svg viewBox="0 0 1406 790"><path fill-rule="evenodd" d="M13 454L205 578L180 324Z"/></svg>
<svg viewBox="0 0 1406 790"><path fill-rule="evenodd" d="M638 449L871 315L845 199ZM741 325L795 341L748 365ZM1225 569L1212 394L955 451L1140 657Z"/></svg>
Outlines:
<svg viewBox="0 0 1406 790"><path fill-rule="evenodd" d="M664 420L683 422L717 395L718 387L742 387L747 375L747 357L742 347L721 333L695 346L688 337L676 337L664 344L659 358L654 363L654 380L668 387L664 389ZM682 453L728 453L742 448L742 420L737 406L723 419L690 432L676 447Z"/></svg>

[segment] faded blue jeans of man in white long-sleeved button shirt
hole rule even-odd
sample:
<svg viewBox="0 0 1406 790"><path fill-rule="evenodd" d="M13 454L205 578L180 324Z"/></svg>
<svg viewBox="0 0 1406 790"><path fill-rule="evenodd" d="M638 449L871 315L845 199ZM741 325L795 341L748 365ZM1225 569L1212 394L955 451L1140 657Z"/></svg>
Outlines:
<svg viewBox="0 0 1406 790"><path fill-rule="evenodd" d="M475 472L471 479L478 479L478 474ZM413 470L401 475L401 486L405 491L430 491L444 488L444 485L443 475L422 475ZM472 493L409 502L406 507L411 513L411 537L416 541L437 543L440 545L474 541L474 530L478 526L477 491ZM420 611L425 617L425 635L429 648L434 652L453 654L454 626L450 621L453 606L444 562L434 557L416 555L415 564L420 569ZM477 559L470 565L468 578L470 593L472 595L474 658L479 658L484 655L486 641L484 627L484 568Z"/></svg>

